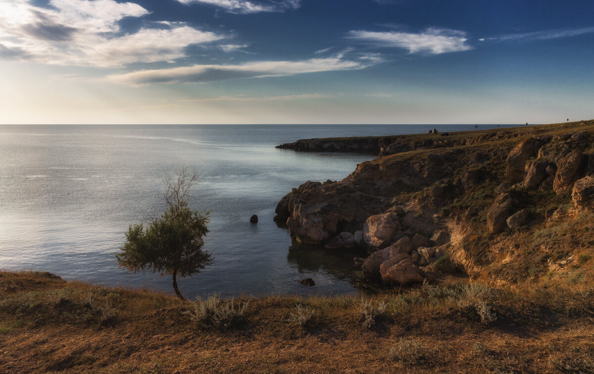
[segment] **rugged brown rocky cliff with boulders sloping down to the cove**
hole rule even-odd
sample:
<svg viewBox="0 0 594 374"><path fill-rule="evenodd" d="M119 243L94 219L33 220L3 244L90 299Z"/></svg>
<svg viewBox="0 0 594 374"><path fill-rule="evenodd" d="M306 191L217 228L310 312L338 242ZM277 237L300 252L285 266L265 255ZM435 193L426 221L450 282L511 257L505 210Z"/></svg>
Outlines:
<svg viewBox="0 0 594 374"><path fill-rule="evenodd" d="M594 245L594 121L381 139L393 142L347 178L280 200L296 241L365 248L364 275L398 286L457 271L517 281ZM561 226L575 232L543 233Z"/></svg>

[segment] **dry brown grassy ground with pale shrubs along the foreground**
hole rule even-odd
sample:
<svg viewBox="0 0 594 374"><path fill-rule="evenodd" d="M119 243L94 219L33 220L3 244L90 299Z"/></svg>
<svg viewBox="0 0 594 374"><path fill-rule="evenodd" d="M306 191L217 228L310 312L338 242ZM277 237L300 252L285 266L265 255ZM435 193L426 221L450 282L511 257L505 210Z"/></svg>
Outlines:
<svg viewBox="0 0 594 374"><path fill-rule="evenodd" d="M594 293L583 289L451 284L371 300L240 302L244 315L216 322L161 293L0 272L0 371L594 370ZM312 312L303 327L296 305Z"/></svg>

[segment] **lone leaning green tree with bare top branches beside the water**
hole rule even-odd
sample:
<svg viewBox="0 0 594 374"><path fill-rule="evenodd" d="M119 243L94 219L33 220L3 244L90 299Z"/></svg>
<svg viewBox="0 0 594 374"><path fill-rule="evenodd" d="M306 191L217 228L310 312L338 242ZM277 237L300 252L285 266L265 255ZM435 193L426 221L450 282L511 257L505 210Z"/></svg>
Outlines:
<svg viewBox="0 0 594 374"><path fill-rule="evenodd" d="M177 280L197 274L213 259L202 249L210 212L188 208L189 190L197 182L196 173L188 173L185 167L179 170L177 179L168 179L165 212L154 218L146 229L142 223L130 225L124 248L115 254L118 266L130 272L150 270L171 275L173 290L182 300L185 299L179 292Z"/></svg>

